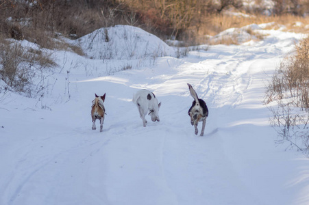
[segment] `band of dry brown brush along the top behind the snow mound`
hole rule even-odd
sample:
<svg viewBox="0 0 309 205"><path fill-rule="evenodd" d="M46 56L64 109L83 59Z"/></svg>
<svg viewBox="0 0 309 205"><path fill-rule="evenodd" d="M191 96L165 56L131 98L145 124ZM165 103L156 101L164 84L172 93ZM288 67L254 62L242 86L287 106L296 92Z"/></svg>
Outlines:
<svg viewBox="0 0 309 205"><path fill-rule="evenodd" d="M301 8L305 8L306 1ZM55 46L51 39L58 33L74 39L95 29L119 24L141 27L159 38L176 38L191 45L205 43L207 35L214 36L225 29L243 27L251 23L274 21L286 25L288 31L309 32L308 27L305 29L309 24L308 17L292 14L282 16L255 14L250 17L226 15L223 9L242 8L240 1L236 0L0 0L0 2L0 33L5 33L9 38L14 36L16 39L36 42L47 49L57 49L57 45ZM304 26L295 25L296 21L303 23ZM69 47L68 45L68 49Z"/></svg>

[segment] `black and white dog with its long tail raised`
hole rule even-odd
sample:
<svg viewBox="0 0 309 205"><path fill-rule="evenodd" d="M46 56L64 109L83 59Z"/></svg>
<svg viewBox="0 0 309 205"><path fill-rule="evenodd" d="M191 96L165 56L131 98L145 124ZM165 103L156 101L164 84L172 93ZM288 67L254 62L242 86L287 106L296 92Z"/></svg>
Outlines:
<svg viewBox="0 0 309 205"><path fill-rule="evenodd" d="M201 136L204 134L205 125L206 125L206 118L208 117L208 107L206 102L202 99L197 97L197 92L193 89L192 85L187 83L189 86L190 94L193 96L194 101L192 102L192 106L188 111L188 115L191 118L191 125L194 125L195 128L195 135L199 132L197 130L197 124L203 121L203 126L201 127Z"/></svg>

